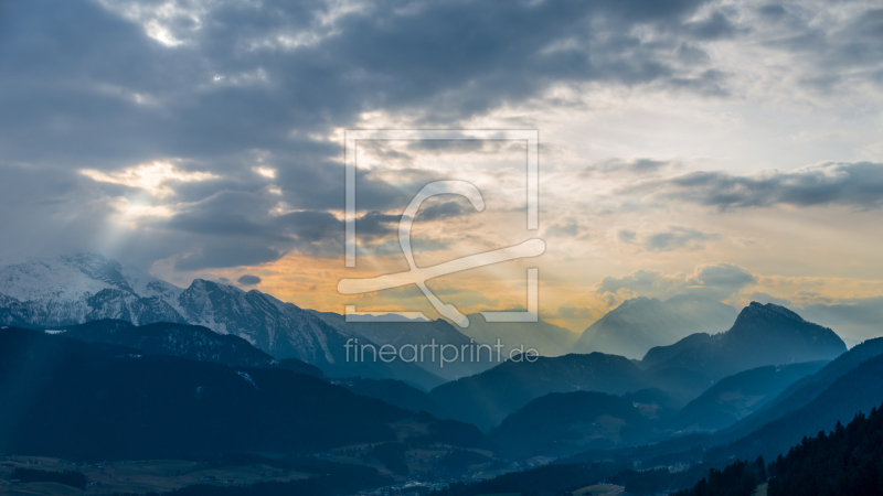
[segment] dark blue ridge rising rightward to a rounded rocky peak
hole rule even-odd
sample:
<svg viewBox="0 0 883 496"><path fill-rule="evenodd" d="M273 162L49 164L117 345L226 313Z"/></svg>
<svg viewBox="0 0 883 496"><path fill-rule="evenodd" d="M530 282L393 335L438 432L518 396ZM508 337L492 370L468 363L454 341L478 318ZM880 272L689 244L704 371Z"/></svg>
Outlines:
<svg viewBox="0 0 883 496"><path fill-rule="evenodd" d="M602 353L539 357L533 363L511 360L444 384L430 396L439 405L460 406L451 412L453 418L489 430L531 400L551 392L624 395L657 388L682 407L726 376L766 365L830 360L847 351L830 328L773 304L752 303L728 331L699 337L688 336L671 345L678 353L650 367ZM666 354L651 351L648 355Z"/></svg>

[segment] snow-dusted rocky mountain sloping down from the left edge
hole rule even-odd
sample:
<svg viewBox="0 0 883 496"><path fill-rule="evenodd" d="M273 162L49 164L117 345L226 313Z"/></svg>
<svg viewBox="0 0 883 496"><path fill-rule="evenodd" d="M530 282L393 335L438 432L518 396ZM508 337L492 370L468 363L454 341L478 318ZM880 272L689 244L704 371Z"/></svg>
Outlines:
<svg viewBox="0 0 883 496"><path fill-rule="evenodd" d="M277 359L315 365L331 377L400 378L424 389L444 382L401 360L348 360L344 345L360 334L257 290L204 279L179 288L96 254L0 265L0 323L61 328L104 319L202 325L242 337ZM362 343L386 344L364 337Z"/></svg>

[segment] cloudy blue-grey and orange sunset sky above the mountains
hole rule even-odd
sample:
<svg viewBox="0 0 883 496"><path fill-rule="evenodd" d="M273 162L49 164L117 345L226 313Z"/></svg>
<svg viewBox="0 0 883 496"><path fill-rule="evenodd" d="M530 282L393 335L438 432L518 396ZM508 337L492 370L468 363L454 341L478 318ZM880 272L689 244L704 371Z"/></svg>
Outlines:
<svg viewBox="0 0 883 496"><path fill-rule="evenodd" d="M784 304L883 335L883 9L873 1L0 2L0 261L92 251L187 287L304 308L424 311L397 224L427 182L469 181L414 222L465 313L523 308L581 332L624 300ZM343 262L344 131L530 129L522 143L364 143L358 265Z"/></svg>

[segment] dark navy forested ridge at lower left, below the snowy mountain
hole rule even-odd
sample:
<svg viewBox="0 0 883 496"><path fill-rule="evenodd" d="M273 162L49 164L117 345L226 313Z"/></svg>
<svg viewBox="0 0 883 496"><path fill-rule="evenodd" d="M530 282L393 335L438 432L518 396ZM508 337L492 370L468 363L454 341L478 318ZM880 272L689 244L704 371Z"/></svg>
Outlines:
<svg viewBox="0 0 883 496"><path fill-rule="evenodd" d="M432 442L483 438L281 368L145 355L21 328L0 330L0 452L72 459L309 452L400 440L394 422L435 433Z"/></svg>

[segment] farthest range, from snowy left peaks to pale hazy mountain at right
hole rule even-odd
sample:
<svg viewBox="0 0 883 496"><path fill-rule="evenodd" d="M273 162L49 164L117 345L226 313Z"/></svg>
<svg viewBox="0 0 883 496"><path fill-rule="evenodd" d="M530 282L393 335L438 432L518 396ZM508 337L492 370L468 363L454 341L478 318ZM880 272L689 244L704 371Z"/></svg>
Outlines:
<svg viewBox="0 0 883 496"><path fill-rule="evenodd" d="M200 325L241 337L275 359L295 358L311 364L329 377L398 379L424 390L475 375L497 363L481 354L483 362L458 360L444 368L428 360L357 363L348 356L344 345L359 339L375 348L386 344L398 348L435 339L439 345L461 348L496 344L500 338L503 358L518 346L539 349L544 356L603 351L638 358L656 345L672 345L698 330L725 330L734 314L731 306L700 296L681 295L664 302L637 298L624 302L577 338L542 320L535 324L493 324L471 315L472 324L465 330L444 320L345 322L337 313L301 309L257 290L243 291L216 281L195 279L188 288L179 288L95 254L0 266L0 323L6 325L62 328L107 319L136 325ZM694 388L704 385L704 378L694 380L701 382Z"/></svg>

